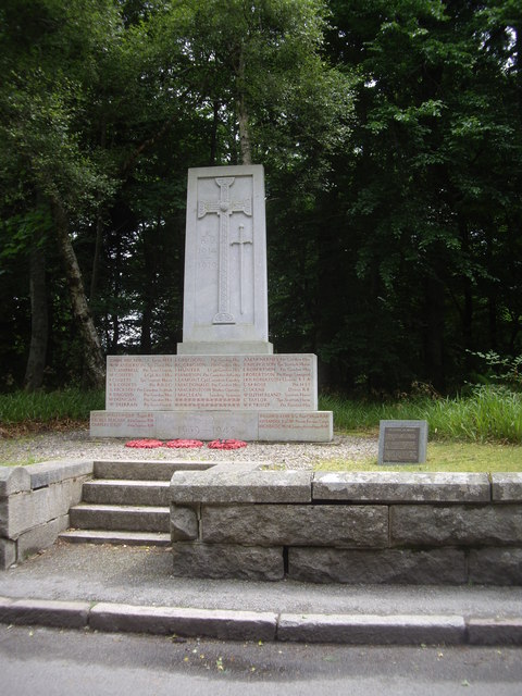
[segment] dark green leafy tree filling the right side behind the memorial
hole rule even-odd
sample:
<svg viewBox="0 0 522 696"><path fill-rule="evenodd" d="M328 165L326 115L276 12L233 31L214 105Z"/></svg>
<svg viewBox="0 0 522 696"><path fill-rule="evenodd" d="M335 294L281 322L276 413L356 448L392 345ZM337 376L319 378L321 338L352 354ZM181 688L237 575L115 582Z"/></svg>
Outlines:
<svg viewBox="0 0 522 696"><path fill-rule="evenodd" d="M518 181L520 119L509 94L520 10L496 0L331 5L332 54L360 74L337 203L357 272L347 269L346 291L363 298L369 321L360 304L345 311L328 350L358 365L351 378L370 387L422 377L444 388L462 380L464 348L486 343L482 288L504 285L506 271L484 254L487 239L490 260L520 239L517 223L498 234L520 209L506 167ZM502 304L492 308L497 319Z"/></svg>

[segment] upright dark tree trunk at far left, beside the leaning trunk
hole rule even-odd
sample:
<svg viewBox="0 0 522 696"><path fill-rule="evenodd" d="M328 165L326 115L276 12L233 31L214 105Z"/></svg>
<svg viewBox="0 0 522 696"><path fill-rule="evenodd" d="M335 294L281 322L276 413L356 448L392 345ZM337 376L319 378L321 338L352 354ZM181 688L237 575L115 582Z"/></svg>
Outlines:
<svg viewBox="0 0 522 696"><path fill-rule="evenodd" d="M30 347L24 388L35 391L44 384L49 316L47 311L46 253L37 240L30 250Z"/></svg>

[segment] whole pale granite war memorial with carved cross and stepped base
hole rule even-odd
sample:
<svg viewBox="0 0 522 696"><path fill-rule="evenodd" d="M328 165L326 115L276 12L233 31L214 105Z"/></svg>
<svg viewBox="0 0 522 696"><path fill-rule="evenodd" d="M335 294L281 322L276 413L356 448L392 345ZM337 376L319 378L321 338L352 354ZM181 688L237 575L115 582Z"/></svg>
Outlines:
<svg viewBox="0 0 522 696"><path fill-rule="evenodd" d="M183 343L176 356L109 356L98 437L328 442L316 357L268 338L261 165L188 173Z"/></svg>

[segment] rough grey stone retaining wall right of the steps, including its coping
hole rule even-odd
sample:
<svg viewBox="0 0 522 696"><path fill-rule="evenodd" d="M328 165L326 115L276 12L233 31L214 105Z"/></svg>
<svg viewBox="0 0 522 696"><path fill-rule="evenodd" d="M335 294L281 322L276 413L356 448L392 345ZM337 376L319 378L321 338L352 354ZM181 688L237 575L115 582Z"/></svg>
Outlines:
<svg viewBox="0 0 522 696"><path fill-rule="evenodd" d="M519 473L176 472L174 574L522 584L521 485Z"/></svg>

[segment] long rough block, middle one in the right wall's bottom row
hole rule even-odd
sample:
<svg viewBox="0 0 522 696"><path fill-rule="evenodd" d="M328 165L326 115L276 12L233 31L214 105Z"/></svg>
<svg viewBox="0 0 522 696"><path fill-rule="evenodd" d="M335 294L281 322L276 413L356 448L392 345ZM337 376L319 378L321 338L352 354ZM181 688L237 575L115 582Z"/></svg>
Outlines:
<svg viewBox="0 0 522 696"><path fill-rule="evenodd" d="M462 584L465 552L431 550L352 550L289 548L288 577L312 583Z"/></svg>

